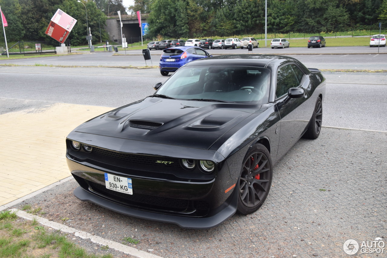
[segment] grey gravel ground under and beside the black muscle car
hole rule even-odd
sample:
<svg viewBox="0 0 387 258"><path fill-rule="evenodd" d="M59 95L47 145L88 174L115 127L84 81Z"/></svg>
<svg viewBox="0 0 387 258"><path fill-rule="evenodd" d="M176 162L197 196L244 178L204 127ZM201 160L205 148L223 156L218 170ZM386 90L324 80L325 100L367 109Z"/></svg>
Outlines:
<svg viewBox="0 0 387 258"><path fill-rule="evenodd" d="M47 212L42 217L119 243L132 237L140 242L128 245L165 258L345 257L346 239L387 237L386 137L387 133L323 128L317 140L301 139L274 167L273 187L264 205L212 229L182 229L81 202L72 194L77 187L73 179L13 208L41 207ZM90 241L74 241L96 253L112 251Z"/></svg>

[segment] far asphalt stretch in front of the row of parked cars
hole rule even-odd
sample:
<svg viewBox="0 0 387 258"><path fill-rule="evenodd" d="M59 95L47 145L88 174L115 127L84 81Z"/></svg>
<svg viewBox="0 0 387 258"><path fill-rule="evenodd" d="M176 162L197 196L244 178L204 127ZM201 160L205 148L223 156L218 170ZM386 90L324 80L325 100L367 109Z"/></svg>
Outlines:
<svg viewBox="0 0 387 258"><path fill-rule="evenodd" d="M151 51L151 60L144 61L141 50L111 52L94 52L62 57L38 57L30 59L0 60L0 64L46 65L46 66L158 66L161 50ZM248 54L247 49L211 49L209 53ZM384 53L384 54L383 54ZM299 59L310 68L318 69L368 69L387 70L387 48L377 47L323 47L308 49L307 47L290 47L285 49L255 48L253 54L286 54Z"/></svg>

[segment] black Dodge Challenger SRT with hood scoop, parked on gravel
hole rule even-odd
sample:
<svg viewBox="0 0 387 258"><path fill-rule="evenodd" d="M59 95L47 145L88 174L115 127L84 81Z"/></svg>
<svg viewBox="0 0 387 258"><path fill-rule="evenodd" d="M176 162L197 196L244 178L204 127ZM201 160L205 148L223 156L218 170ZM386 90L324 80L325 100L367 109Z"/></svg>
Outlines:
<svg viewBox="0 0 387 258"><path fill-rule="evenodd" d="M152 96L67 137L74 195L128 216L212 228L265 201L274 164L319 136L325 78L291 57L190 62Z"/></svg>

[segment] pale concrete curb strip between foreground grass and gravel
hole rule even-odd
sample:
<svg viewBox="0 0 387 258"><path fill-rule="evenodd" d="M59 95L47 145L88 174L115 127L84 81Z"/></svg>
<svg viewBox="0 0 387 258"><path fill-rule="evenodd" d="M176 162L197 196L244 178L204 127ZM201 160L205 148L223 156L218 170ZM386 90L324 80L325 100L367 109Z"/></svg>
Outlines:
<svg viewBox="0 0 387 258"><path fill-rule="evenodd" d="M17 214L17 216L20 218L28 219L28 220L36 219L36 221L38 221L43 226L48 226L50 228L60 230L64 233L71 233L71 234L74 234L75 236L82 238L82 239L90 239L90 241L92 241L93 243L96 243L98 245L109 246L109 248L113 248L114 250L129 254L129 255L132 255L132 256L135 256L138 258L163 258L161 256L152 255L151 253L140 251L136 248L126 246L126 245L117 243L115 241L107 240L107 239L101 238L99 236L94 236L94 235L87 233L85 231L81 231L81 230L78 230L75 228L70 228L66 225L57 223L55 221L49 221L48 219L29 214L25 211L20 211L18 209L11 209L10 211L15 212Z"/></svg>

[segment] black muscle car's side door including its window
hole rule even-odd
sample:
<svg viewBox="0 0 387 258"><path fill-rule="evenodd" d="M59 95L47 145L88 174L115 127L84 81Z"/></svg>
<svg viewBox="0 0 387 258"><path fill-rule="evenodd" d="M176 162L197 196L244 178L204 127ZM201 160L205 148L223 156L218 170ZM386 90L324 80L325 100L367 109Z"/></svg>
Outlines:
<svg viewBox="0 0 387 258"><path fill-rule="evenodd" d="M300 139L310 120L308 110L309 96L307 76L296 64L279 67L276 78L276 106L281 116L278 157L282 157ZM290 98L290 88L301 88L305 91L300 98Z"/></svg>

